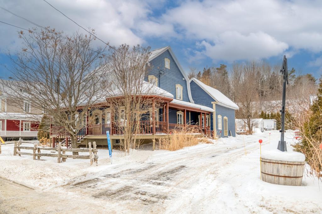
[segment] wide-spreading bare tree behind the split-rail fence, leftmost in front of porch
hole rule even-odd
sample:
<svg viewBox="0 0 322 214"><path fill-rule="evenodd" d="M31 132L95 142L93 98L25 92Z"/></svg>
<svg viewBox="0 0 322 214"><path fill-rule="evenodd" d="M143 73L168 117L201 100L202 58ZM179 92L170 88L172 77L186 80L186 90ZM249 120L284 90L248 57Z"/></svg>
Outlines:
<svg viewBox="0 0 322 214"><path fill-rule="evenodd" d="M87 110L105 102L107 83L99 63L105 48L94 48L91 35L69 36L49 28L21 31L19 37L22 51L9 54L14 81L2 81L12 92L8 100L28 114L48 115L43 122L60 127L52 134L65 132L76 148Z"/></svg>

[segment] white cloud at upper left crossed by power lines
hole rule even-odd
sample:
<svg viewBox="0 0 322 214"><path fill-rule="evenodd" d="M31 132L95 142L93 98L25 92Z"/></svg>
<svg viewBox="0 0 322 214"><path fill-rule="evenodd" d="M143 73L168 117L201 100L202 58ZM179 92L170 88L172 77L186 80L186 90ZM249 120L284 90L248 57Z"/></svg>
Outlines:
<svg viewBox="0 0 322 214"><path fill-rule="evenodd" d="M135 28L138 20L146 19L147 14L150 13L149 6L145 2L138 0L58 0L49 2L84 28L95 29L100 39L109 41L112 45L144 43L144 39L137 36L131 28ZM66 33L77 30L85 32L43 1L0 0L0 5L42 26L50 26ZM0 20L26 29L35 27L1 9ZM20 46L18 30L0 23L0 37L2 39L0 51L13 50ZM97 44L102 45L99 41Z"/></svg>

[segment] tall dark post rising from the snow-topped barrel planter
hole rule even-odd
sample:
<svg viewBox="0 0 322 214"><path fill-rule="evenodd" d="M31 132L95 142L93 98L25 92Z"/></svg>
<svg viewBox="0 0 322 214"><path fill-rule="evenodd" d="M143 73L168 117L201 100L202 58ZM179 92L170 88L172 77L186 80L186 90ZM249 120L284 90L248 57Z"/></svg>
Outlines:
<svg viewBox="0 0 322 214"><path fill-rule="evenodd" d="M286 147L286 141L284 140L284 133L285 133L285 101L286 101L286 84L289 84L289 80L288 80L288 76L287 76L287 58L284 55L283 58L283 64L282 64L282 68L280 70L281 74L283 75L283 96L282 96L282 110L281 112L281 116L282 116L282 124L281 124L281 140L279 141L279 145L277 147L277 149L279 149L282 152L286 152L287 151L287 147Z"/></svg>

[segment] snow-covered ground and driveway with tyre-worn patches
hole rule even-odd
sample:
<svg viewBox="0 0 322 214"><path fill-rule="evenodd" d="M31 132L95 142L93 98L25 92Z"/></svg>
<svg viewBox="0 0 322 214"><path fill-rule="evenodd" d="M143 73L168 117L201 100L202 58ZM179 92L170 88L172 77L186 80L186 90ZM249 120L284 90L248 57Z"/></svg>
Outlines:
<svg viewBox="0 0 322 214"><path fill-rule="evenodd" d="M32 160L2 146L0 176L125 213L321 213L321 181L305 173L302 186L260 180L262 151L277 148L279 132L220 138L178 151L134 150L129 156L99 149L99 166L89 160ZM293 132L286 132L288 150ZM245 145L245 147L244 147ZM245 155L245 148L247 155ZM43 158L42 158L43 159ZM308 167L308 166L307 166Z"/></svg>

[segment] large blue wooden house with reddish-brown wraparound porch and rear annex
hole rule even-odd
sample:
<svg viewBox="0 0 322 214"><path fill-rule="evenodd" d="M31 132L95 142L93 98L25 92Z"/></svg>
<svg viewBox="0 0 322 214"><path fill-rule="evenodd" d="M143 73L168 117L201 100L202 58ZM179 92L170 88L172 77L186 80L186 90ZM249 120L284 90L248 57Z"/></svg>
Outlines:
<svg viewBox="0 0 322 214"><path fill-rule="evenodd" d="M147 66L145 84L158 92L149 96L161 100L163 107L158 109L152 105L142 115L144 117L136 121L140 139L164 138L166 134L183 129L207 137L235 136L235 110L238 106L218 90L197 79L189 80L170 46L151 51ZM116 112L107 102L106 106L98 103L97 108L86 111L79 141L87 144L94 140L98 145L105 145L106 131L109 131L112 145L119 145L127 124L124 110ZM62 134L67 133L62 127L51 126L50 133L52 142L69 137Z"/></svg>

